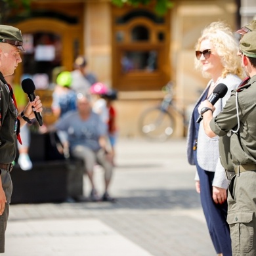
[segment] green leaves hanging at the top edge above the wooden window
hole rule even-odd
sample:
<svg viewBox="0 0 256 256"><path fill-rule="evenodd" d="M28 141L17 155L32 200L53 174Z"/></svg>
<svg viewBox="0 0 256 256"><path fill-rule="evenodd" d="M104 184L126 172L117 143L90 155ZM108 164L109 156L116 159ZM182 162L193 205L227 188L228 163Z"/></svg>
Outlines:
<svg viewBox="0 0 256 256"><path fill-rule="evenodd" d="M137 7L138 5L148 5L152 0L112 0L112 3L117 7L123 7L123 5L131 5ZM168 9L173 7L173 1L171 0L156 0L155 11L158 15L164 15Z"/></svg>

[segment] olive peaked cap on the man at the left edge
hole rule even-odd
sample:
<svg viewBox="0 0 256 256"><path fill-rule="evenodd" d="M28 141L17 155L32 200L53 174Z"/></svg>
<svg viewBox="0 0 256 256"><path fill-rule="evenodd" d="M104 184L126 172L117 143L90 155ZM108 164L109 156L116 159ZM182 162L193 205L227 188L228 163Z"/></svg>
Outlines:
<svg viewBox="0 0 256 256"><path fill-rule="evenodd" d="M18 47L21 51L25 51L22 47L23 39L21 31L12 26L0 25L0 43L9 43Z"/></svg>

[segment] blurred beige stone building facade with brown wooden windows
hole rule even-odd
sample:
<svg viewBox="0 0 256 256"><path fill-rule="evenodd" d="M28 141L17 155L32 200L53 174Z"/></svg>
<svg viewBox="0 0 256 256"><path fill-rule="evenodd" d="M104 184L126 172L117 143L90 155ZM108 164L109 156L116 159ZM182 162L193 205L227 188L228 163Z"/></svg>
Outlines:
<svg viewBox="0 0 256 256"><path fill-rule="evenodd" d="M207 80L194 70L194 45L202 29L217 20L228 22L234 32L240 26L235 0L174 2L165 16L158 17L151 5L120 9L110 0L33 1L32 15L12 25L28 35L28 42L32 43L33 37L33 47L35 39L38 46L47 34L48 43L43 45L52 45L58 54L51 59L49 53L48 63L32 60L33 50L26 53L16 79L33 70L33 75L51 73L49 85L54 84L53 70L61 66L71 71L75 56L84 54L98 81L119 91L114 103L119 136L137 137L140 114L158 104L164 95L161 89L169 80L175 82L175 102L184 112L205 87ZM47 53L50 51L47 47ZM130 69L125 62L129 58L133 60ZM46 62L48 70L43 66ZM182 137L182 116L173 115L177 121L174 135Z"/></svg>

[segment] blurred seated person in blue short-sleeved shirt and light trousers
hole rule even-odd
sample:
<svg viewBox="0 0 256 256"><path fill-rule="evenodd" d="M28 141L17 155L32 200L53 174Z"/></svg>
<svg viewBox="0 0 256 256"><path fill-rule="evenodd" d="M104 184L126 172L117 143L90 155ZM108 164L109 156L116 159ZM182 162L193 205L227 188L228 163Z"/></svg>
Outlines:
<svg viewBox="0 0 256 256"><path fill-rule="evenodd" d="M65 131L70 144L70 155L83 160L85 173L91 182L90 199L115 202L108 193L112 179L113 166L109 161L112 156L107 146L107 126L100 116L92 111L91 95L79 93L77 95L77 110L68 112L54 125L58 131ZM96 163L104 169L104 194L98 195L94 181L94 167Z"/></svg>

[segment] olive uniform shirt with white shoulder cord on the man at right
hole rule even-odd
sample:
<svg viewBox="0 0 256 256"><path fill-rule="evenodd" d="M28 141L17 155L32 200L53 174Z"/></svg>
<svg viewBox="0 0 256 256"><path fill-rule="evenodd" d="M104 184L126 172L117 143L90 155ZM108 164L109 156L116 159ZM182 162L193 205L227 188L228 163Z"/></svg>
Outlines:
<svg viewBox="0 0 256 256"><path fill-rule="evenodd" d="M236 104L237 100L237 104ZM236 109L238 107L238 111ZM238 120L239 119L239 120ZM234 165L256 163L256 75L232 91L223 111L210 122L212 131L223 137L231 129L230 153ZM221 156L224 158L225 156Z"/></svg>

